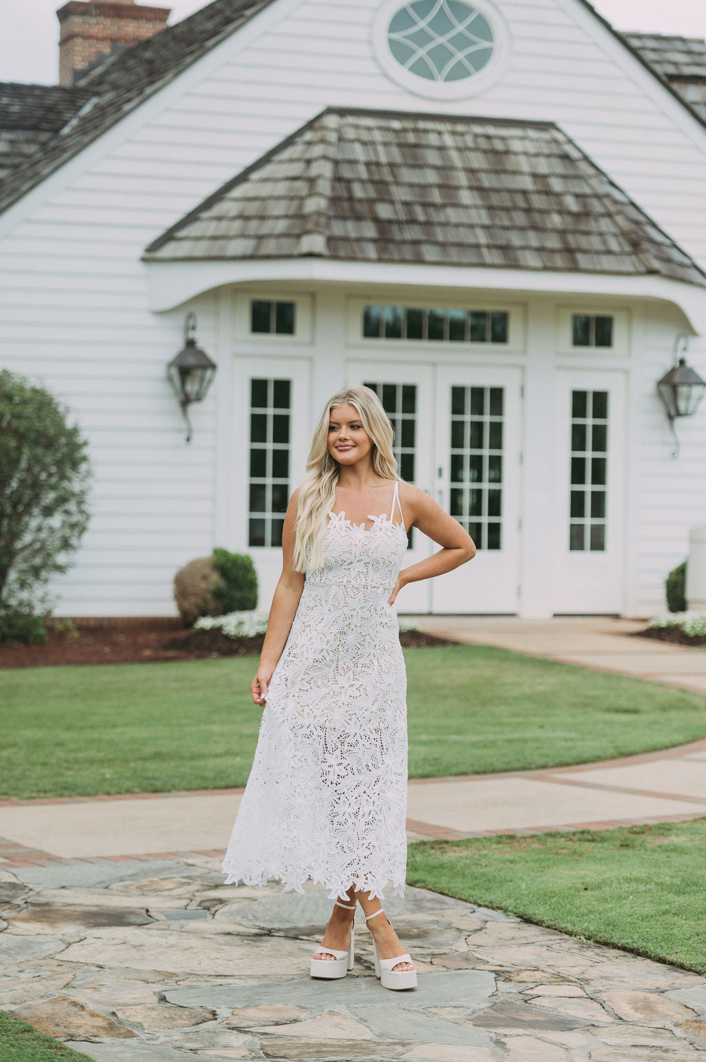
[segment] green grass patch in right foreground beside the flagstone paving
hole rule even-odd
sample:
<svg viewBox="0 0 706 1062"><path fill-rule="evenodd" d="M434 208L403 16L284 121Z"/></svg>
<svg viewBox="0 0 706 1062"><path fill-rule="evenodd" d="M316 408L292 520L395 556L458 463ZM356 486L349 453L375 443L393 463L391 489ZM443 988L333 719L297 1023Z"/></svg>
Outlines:
<svg viewBox="0 0 706 1062"><path fill-rule="evenodd" d="M706 974L706 819L420 841L408 881Z"/></svg>

